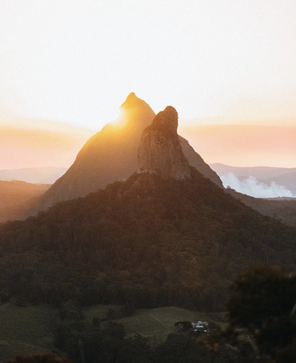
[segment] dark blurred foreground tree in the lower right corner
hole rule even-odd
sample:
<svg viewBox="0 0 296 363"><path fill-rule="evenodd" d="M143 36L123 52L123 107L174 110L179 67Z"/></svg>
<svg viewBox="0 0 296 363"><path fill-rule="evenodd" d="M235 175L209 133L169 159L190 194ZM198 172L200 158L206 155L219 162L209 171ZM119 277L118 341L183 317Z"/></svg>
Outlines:
<svg viewBox="0 0 296 363"><path fill-rule="evenodd" d="M277 363L296 360L296 274L255 265L233 281L230 326L248 329L263 356Z"/></svg>

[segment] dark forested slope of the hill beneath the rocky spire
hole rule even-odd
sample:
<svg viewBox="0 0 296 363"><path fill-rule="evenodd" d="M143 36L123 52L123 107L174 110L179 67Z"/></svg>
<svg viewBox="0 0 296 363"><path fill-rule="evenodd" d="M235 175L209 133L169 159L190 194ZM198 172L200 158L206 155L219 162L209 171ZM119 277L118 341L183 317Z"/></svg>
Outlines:
<svg viewBox="0 0 296 363"><path fill-rule="evenodd" d="M52 306L73 299L221 311L230 281L254 262L296 270L295 228L191 174L133 174L1 225L0 290Z"/></svg>

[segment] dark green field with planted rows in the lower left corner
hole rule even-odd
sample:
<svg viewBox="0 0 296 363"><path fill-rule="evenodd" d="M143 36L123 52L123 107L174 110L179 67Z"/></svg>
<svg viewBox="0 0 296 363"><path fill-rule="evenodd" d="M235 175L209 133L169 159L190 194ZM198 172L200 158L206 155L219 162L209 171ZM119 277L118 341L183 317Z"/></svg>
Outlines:
<svg viewBox="0 0 296 363"><path fill-rule="evenodd" d="M47 306L18 307L6 303L0 307L0 363L17 355L55 352L53 327L58 310Z"/></svg>

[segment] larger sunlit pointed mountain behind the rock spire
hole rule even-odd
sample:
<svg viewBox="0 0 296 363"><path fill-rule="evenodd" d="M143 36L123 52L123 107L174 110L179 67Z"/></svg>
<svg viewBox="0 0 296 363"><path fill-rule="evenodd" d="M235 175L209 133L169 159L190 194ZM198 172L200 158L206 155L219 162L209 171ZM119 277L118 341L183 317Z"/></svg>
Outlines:
<svg viewBox="0 0 296 363"><path fill-rule="evenodd" d="M137 170L142 132L151 124L155 113L134 93L128 95L120 109L120 121L105 125L87 141L74 164L41 198L37 210L57 201L85 196L116 180L124 180ZM187 140L181 137L180 140L189 163L222 187L220 178L190 147Z"/></svg>

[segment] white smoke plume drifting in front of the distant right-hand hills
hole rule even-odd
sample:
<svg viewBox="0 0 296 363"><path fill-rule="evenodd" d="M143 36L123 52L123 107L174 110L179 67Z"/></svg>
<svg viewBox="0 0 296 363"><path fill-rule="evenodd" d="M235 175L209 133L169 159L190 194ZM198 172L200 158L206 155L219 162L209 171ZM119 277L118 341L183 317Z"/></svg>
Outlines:
<svg viewBox="0 0 296 363"><path fill-rule="evenodd" d="M220 179L224 187L235 189L239 193L247 194L255 198L274 198L274 197L296 197L283 185L278 185L274 181L270 185L260 182L254 176L249 176L240 180L232 172L221 175Z"/></svg>

